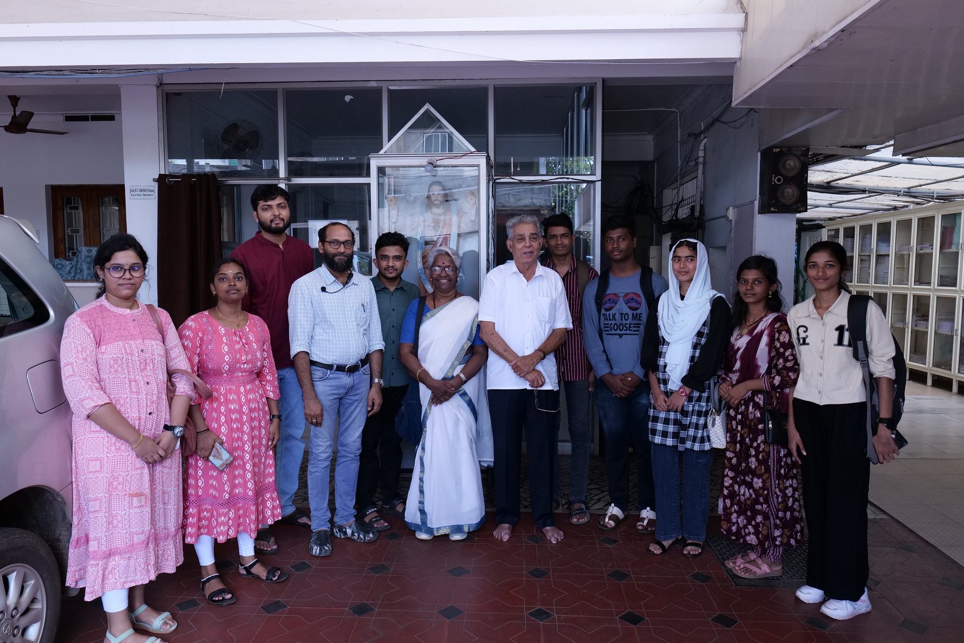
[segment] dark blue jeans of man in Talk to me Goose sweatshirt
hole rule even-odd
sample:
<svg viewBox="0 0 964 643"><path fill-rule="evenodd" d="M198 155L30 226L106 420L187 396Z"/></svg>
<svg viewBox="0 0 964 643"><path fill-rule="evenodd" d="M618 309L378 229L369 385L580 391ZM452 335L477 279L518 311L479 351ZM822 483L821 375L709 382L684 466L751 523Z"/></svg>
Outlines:
<svg viewBox="0 0 964 643"><path fill-rule="evenodd" d="M636 454L636 488L639 508L656 509L653 461L650 459L650 387L643 383L627 397L616 397L602 380L596 380L596 409L605 435L606 477L609 500L623 513L629 511L629 441ZM658 516L658 513L656 514ZM661 519L661 517L659 517Z"/></svg>

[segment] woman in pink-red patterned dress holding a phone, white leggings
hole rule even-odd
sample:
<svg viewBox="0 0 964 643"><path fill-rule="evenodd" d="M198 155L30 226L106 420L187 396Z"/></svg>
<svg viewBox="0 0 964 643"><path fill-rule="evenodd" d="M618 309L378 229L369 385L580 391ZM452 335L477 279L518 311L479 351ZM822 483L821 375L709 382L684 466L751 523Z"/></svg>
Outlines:
<svg viewBox="0 0 964 643"><path fill-rule="evenodd" d="M188 317L178 333L191 370L213 392L191 407L198 452L187 459L184 541L193 543L201 563L201 591L216 605L235 602L214 565L214 541L237 538L241 576L281 582L287 574L254 557L259 528L281 518L275 488L275 458L281 415L278 372L264 321L241 308L247 271L237 259L215 264L212 308ZM215 442L233 456L224 469L207 457ZM270 538L270 536L268 537Z"/></svg>

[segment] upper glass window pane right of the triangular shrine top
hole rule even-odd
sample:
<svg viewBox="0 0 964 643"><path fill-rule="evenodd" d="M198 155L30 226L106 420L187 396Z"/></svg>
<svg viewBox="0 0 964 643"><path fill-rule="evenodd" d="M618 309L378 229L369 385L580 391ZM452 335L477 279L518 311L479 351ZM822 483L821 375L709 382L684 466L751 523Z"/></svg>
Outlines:
<svg viewBox="0 0 964 643"><path fill-rule="evenodd" d="M594 174L593 85L495 88L495 174Z"/></svg>

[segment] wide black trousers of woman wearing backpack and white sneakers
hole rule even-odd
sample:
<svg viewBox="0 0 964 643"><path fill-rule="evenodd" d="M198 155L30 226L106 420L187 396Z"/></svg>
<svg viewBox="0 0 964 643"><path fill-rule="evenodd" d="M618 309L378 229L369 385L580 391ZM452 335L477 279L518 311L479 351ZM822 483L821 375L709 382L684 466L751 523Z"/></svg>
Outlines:
<svg viewBox="0 0 964 643"><path fill-rule="evenodd" d="M864 402L793 400L794 422L807 451L801 459L810 543L807 584L838 601L859 601L870 576L866 414Z"/></svg>

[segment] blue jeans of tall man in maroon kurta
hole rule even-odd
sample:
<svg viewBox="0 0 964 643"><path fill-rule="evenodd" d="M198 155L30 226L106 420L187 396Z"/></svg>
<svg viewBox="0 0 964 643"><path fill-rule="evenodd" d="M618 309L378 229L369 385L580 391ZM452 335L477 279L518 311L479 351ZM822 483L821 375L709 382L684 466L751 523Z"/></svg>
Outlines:
<svg viewBox="0 0 964 643"><path fill-rule="evenodd" d="M281 437L275 455L275 484L281 501L281 516L295 510L298 474L305 455L305 401L294 366L278 369L278 400L281 411Z"/></svg>

